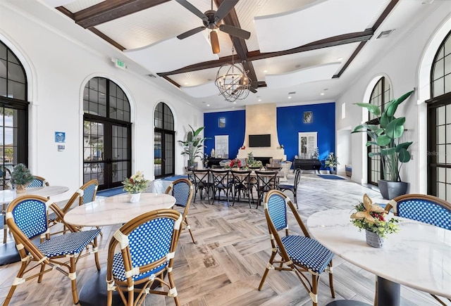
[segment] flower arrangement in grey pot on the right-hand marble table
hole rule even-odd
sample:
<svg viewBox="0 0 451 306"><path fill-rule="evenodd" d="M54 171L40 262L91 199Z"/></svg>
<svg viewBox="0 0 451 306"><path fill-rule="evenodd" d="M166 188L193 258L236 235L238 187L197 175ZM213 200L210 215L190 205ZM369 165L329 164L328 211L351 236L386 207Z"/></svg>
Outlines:
<svg viewBox="0 0 451 306"><path fill-rule="evenodd" d="M359 202L354 209L357 212L351 215L351 222L359 228L359 231L365 230L366 243L369 246L382 248L387 234L396 233L400 230L397 226L399 220L395 218L385 219L388 212L381 206L373 204L366 193L364 194L364 201Z"/></svg>

